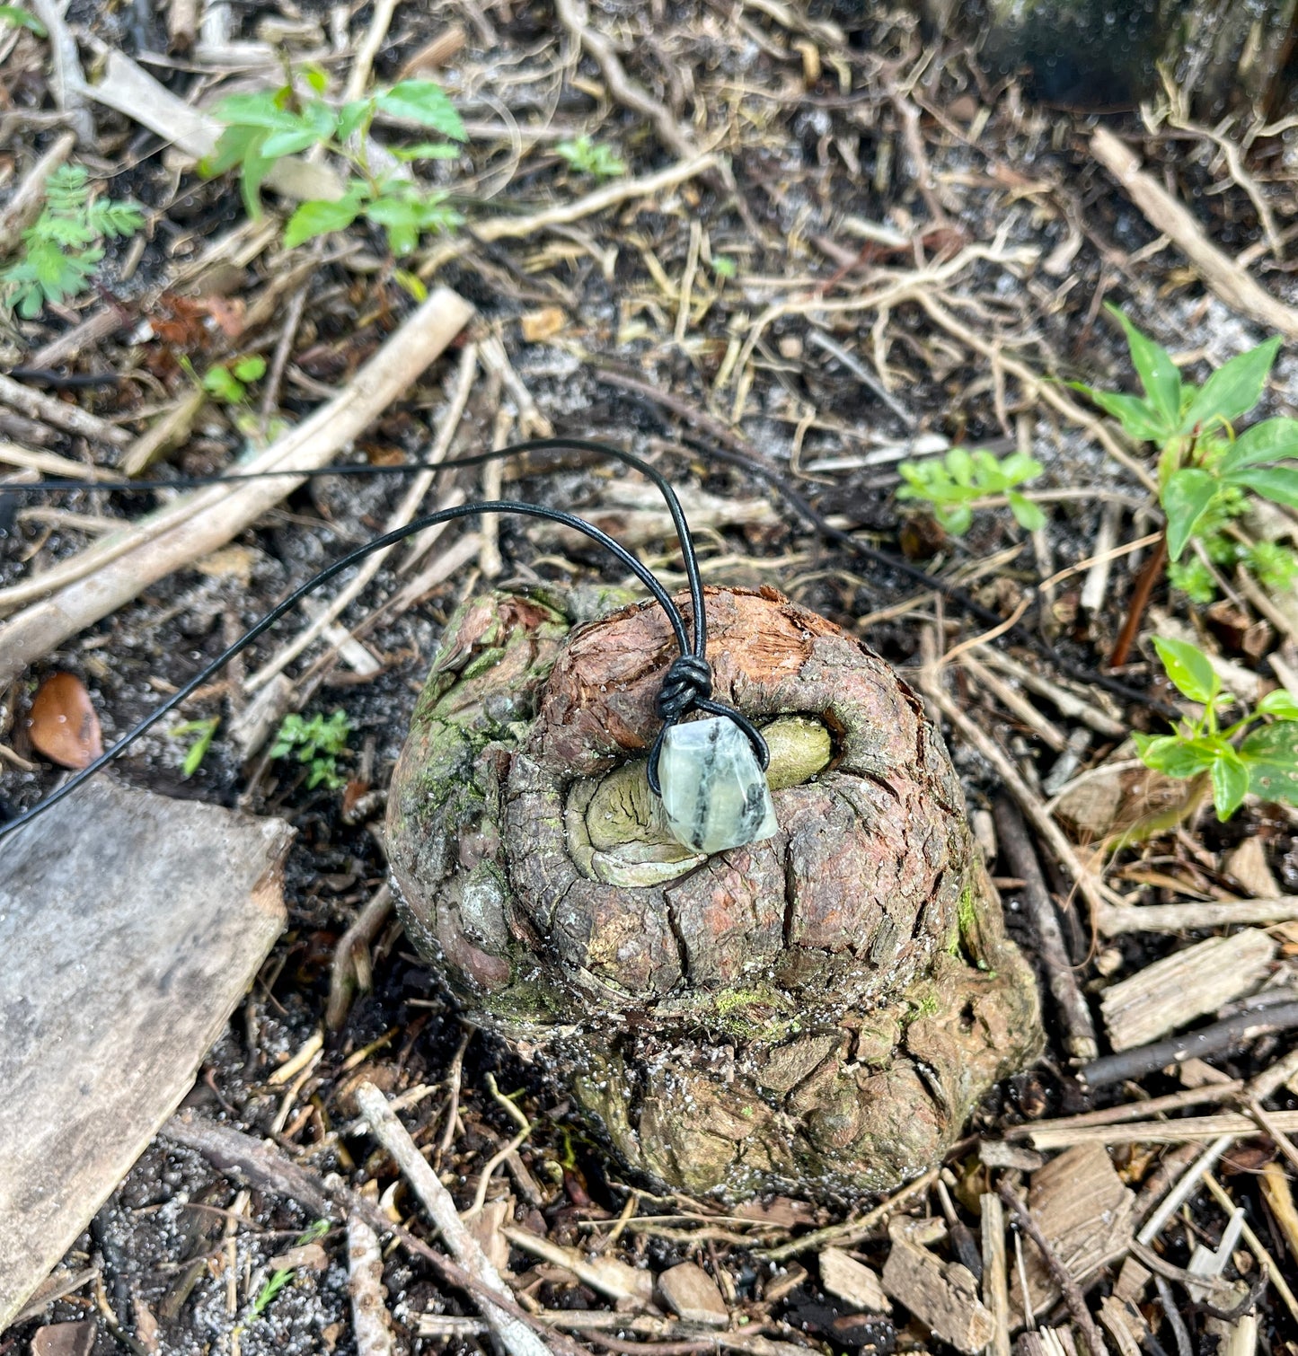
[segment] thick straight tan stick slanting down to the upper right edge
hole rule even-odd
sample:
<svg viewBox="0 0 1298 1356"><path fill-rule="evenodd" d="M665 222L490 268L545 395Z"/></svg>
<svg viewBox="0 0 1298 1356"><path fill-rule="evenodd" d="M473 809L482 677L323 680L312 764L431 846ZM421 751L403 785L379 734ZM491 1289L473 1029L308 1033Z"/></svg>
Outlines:
<svg viewBox="0 0 1298 1356"><path fill-rule="evenodd" d="M1171 237L1208 287L1234 311L1298 338L1298 311L1278 301L1251 274L1214 245L1194 214L1150 174L1139 157L1107 127L1090 137L1090 153L1122 184L1149 224Z"/></svg>

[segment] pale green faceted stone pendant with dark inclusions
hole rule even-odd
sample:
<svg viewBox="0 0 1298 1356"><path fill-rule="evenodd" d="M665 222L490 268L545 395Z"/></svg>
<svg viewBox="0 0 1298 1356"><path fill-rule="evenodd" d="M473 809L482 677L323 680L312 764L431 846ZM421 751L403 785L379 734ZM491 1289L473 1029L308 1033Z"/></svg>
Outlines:
<svg viewBox="0 0 1298 1356"><path fill-rule="evenodd" d="M728 716L673 725L658 759L662 808L673 837L694 852L724 852L780 827L766 776Z"/></svg>

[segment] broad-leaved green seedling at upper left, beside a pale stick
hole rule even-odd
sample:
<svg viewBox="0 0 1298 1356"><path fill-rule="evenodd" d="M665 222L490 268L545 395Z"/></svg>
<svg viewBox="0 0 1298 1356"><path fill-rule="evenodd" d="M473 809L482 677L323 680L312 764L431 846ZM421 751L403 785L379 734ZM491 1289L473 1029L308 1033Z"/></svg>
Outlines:
<svg viewBox="0 0 1298 1356"><path fill-rule="evenodd" d="M217 104L225 132L199 170L224 174L237 167L250 217L262 214L260 190L277 160L319 146L345 160L353 174L336 202L304 202L289 217L283 243L290 248L343 231L358 218L382 226L397 258L408 255L430 231L450 231L463 217L446 203L446 194L425 188L408 171L376 170L369 159L369 130L382 113L426 127L441 140L392 148L397 160L445 160L461 155L465 141L460 114L441 85L431 80L403 80L366 99L334 106L323 96L321 72L305 73L307 92L286 84L273 94L241 94Z"/></svg>

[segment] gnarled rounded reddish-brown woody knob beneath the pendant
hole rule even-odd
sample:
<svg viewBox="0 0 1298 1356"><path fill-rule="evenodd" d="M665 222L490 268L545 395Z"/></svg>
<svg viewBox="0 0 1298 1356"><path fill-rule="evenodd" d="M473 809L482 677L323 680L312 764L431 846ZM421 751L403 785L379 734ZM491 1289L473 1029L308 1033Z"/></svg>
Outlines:
<svg viewBox="0 0 1298 1356"><path fill-rule="evenodd" d="M448 628L389 800L411 940L661 1184L924 1170L1040 1050L940 736L823 617L709 590L715 694L764 727L781 827L692 854L644 776L671 633L648 603L583 622L613 601L495 594Z"/></svg>

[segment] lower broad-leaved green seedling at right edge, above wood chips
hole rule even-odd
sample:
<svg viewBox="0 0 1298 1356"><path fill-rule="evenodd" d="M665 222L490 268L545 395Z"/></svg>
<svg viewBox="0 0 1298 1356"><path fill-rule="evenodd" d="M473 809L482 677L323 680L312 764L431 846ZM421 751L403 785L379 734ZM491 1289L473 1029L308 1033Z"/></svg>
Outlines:
<svg viewBox="0 0 1298 1356"><path fill-rule="evenodd" d="M1234 697L1222 692L1208 656L1196 645L1165 636L1154 636L1154 648L1176 690L1198 702L1202 712L1177 721L1171 735L1134 734L1141 762L1168 777L1208 773L1221 820L1229 819L1249 792L1298 805L1298 701L1283 689L1267 693L1240 720L1222 727L1221 712Z"/></svg>

